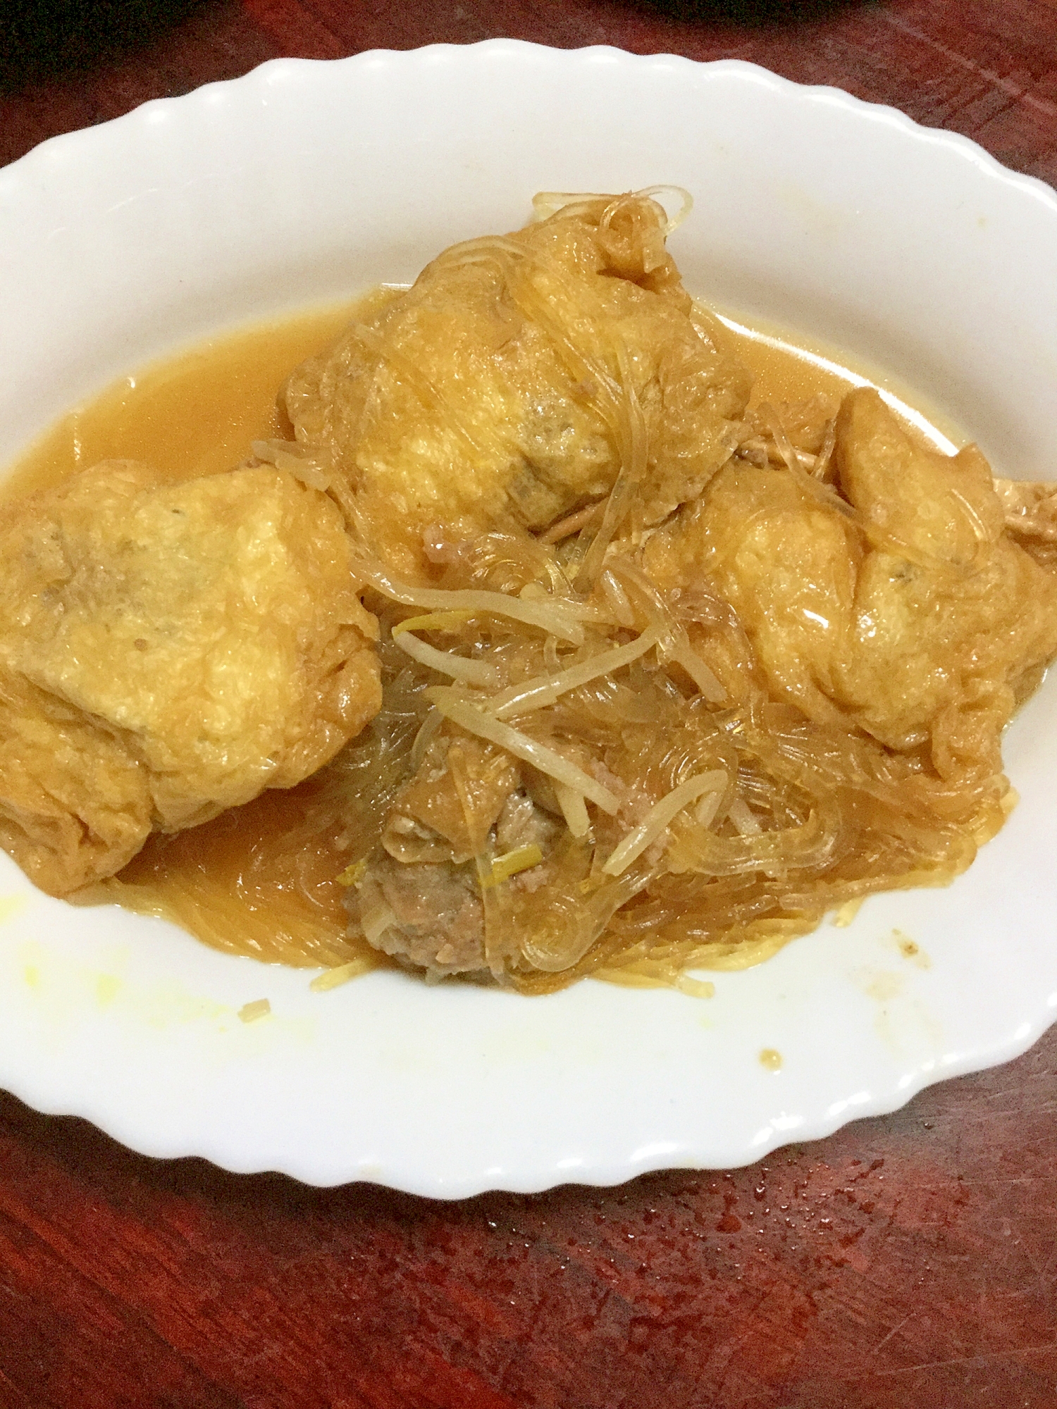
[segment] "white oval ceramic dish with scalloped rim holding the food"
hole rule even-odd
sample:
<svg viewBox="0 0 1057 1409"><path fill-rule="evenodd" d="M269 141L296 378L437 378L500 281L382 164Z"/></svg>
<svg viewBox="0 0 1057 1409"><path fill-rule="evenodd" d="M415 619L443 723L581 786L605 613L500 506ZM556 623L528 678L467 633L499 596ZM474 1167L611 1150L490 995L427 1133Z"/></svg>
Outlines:
<svg viewBox="0 0 1057 1409"><path fill-rule="evenodd" d="M0 462L116 375L410 279L537 189L657 182L696 197L674 240L695 292L920 387L1002 472L1053 473L1049 187L748 65L506 41L269 63L0 172ZM1009 733L1023 800L967 876L719 974L710 1000L393 974L313 995L0 858L0 1084L148 1154L443 1196L733 1165L891 1110L1056 1016L1056 686ZM241 1023L265 996L273 1016Z"/></svg>

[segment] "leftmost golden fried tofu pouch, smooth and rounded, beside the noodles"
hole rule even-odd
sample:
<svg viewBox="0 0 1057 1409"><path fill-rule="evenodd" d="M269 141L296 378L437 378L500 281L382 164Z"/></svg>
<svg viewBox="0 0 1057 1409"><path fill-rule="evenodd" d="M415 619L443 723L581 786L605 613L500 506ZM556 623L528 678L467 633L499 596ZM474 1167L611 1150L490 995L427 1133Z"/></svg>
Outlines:
<svg viewBox="0 0 1057 1409"><path fill-rule="evenodd" d="M381 707L337 506L272 468L158 479L110 461L0 514L0 845L52 895Z"/></svg>

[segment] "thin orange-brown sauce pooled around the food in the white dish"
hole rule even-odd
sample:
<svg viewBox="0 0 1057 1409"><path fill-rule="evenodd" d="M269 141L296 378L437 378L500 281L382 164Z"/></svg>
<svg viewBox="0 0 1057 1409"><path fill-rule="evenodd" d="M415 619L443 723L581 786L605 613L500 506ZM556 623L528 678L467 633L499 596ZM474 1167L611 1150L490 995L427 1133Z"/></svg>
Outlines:
<svg viewBox="0 0 1057 1409"><path fill-rule="evenodd" d="M216 337L117 382L68 413L7 475L0 496L54 486L101 459L140 459L159 479L189 479L237 465L249 444L290 434L276 392L306 356L324 348L355 310L389 297L302 313ZM864 378L805 352L771 331L731 331L753 368L754 402L843 396ZM947 447L901 397L894 406ZM86 902L118 900L161 914L218 948L293 965L385 962L345 936L337 876L355 859L355 826L341 814L334 769L289 792L268 792L206 826L152 837L118 878Z"/></svg>

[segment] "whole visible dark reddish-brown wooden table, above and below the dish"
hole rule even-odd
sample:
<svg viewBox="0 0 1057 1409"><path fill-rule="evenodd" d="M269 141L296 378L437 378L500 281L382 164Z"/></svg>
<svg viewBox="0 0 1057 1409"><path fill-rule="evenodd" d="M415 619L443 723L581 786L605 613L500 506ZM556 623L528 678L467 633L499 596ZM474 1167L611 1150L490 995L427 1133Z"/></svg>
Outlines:
<svg viewBox="0 0 1057 1409"><path fill-rule="evenodd" d="M751 59L1057 183L1057 0L23 0L0 163L276 55L493 35ZM1057 1406L1056 1112L1051 1031L761 1165L431 1203L0 1096L0 1409Z"/></svg>

